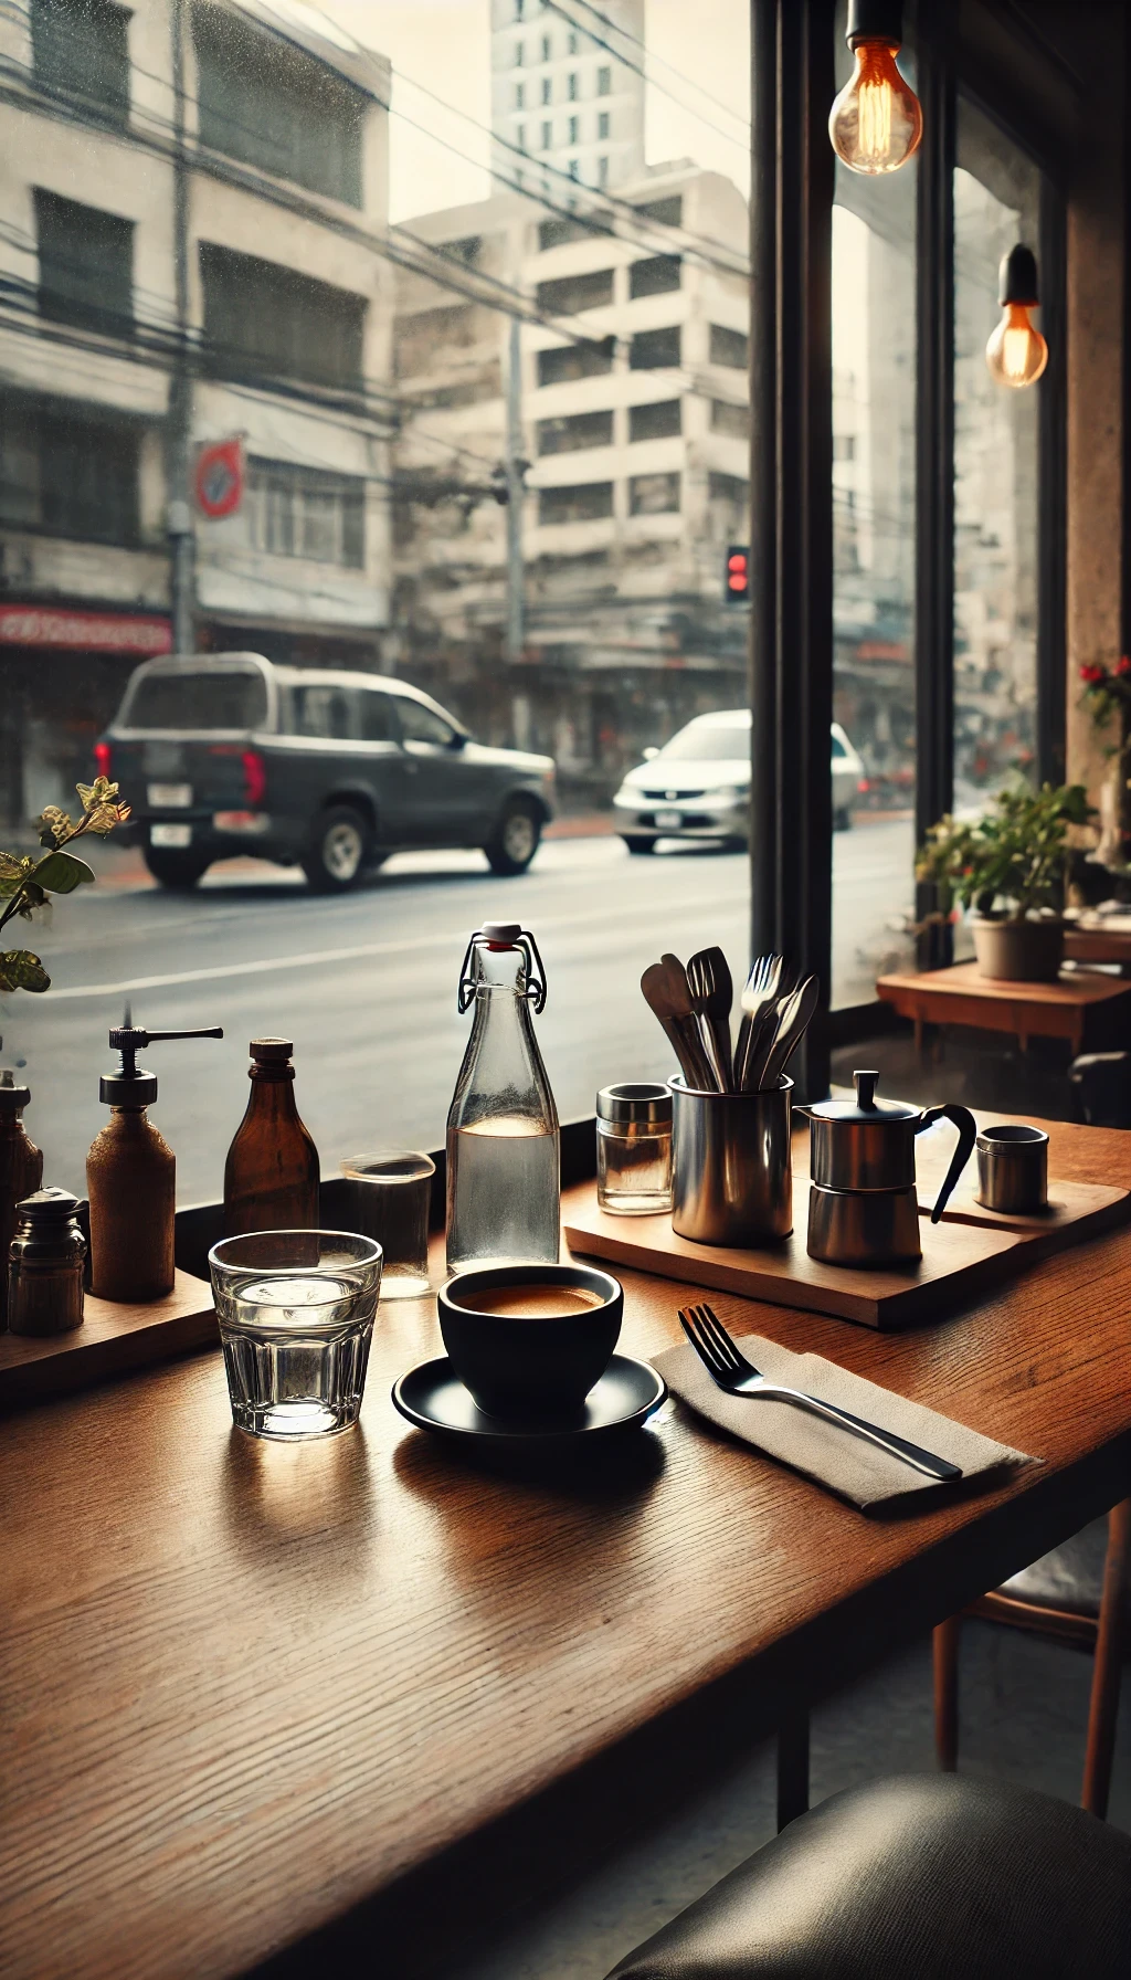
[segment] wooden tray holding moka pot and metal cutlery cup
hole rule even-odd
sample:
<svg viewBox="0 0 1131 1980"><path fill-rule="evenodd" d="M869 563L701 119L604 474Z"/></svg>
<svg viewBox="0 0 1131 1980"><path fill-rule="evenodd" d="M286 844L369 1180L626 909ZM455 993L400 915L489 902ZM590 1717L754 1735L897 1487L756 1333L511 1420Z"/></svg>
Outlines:
<svg viewBox="0 0 1131 1980"><path fill-rule="evenodd" d="M808 1178L794 1180L794 1232L765 1251L677 1238L668 1216L610 1218L596 1208L596 1184L584 1182L563 1198L565 1238L572 1251L606 1257L662 1279L711 1285L778 1307L830 1313L860 1327L889 1331L939 1319L1036 1259L1036 1239L988 1232L977 1224L927 1224L917 1267L822 1265L804 1247Z"/></svg>

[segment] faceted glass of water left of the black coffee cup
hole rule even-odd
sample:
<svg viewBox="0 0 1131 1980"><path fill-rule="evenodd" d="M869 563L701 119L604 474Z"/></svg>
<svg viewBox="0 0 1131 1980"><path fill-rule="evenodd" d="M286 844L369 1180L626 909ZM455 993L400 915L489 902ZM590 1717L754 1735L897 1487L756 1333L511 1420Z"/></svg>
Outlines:
<svg viewBox="0 0 1131 1980"><path fill-rule="evenodd" d="M357 1424L382 1251L351 1232L250 1232L208 1253L232 1418L254 1437Z"/></svg>

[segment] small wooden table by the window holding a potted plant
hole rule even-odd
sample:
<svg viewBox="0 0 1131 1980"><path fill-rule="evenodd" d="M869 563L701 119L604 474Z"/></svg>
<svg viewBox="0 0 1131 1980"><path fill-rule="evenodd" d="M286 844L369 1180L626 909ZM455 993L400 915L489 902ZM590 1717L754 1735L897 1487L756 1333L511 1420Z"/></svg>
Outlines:
<svg viewBox="0 0 1131 1980"><path fill-rule="evenodd" d="M877 996L915 1024L969 1024L1010 1032L1022 1051L1030 1038L1066 1038L1076 1057L1087 1045L1131 1045L1131 984L1117 976L1066 972L1054 984L1012 984L982 976L977 962L949 970L879 976Z"/></svg>

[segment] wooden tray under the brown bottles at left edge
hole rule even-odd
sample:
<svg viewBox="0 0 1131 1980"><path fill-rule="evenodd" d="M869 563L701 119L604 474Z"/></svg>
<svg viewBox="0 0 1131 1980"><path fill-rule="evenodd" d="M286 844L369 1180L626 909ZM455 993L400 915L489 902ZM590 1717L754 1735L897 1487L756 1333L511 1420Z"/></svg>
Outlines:
<svg viewBox="0 0 1131 1980"><path fill-rule="evenodd" d="M85 1319L69 1335L0 1335L0 1408L20 1408L93 1388L135 1368L218 1346L212 1287L176 1273L166 1299L119 1307L87 1293Z"/></svg>

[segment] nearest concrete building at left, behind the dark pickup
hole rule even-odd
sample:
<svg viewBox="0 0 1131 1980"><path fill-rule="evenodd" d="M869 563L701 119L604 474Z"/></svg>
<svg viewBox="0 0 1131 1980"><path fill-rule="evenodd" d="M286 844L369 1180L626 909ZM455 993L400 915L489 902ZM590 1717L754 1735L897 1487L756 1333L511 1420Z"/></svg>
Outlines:
<svg viewBox="0 0 1131 1980"><path fill-rule="evenodd" d="M388 65L267 0L32 0L0 53L0 804L20 822L89 774L131 667L170 649L178 556L198 645L376 661ZM194 467L230 438L244 499L208 519Z"/></svg>

